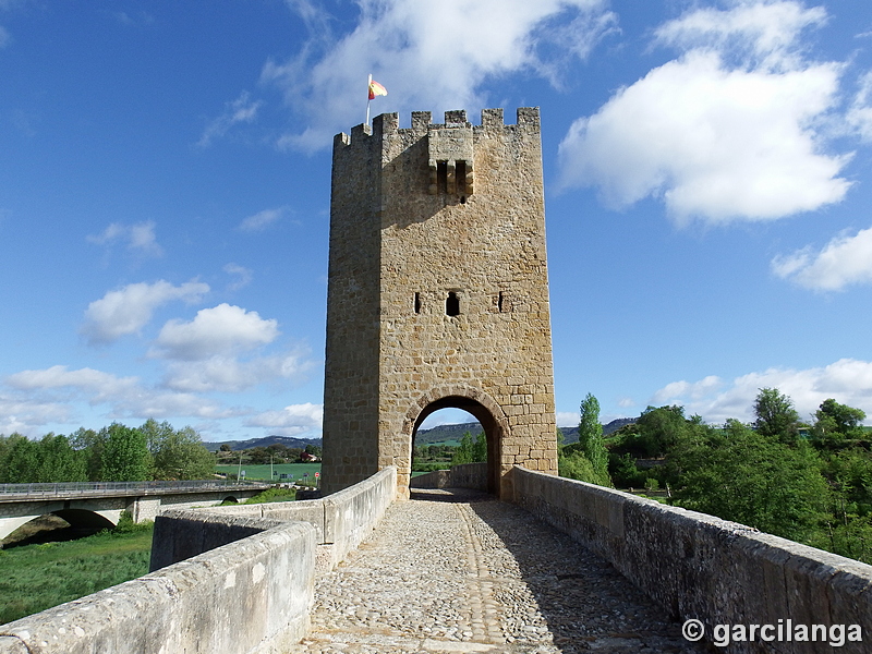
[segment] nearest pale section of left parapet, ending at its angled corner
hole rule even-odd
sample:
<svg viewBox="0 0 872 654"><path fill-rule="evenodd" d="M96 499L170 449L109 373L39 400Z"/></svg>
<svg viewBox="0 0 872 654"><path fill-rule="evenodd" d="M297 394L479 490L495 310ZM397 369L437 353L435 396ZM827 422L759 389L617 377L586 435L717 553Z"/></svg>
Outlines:
<svg viewBox="0 0 872 654"><path fill-rule="evenodd" d="M308 627L315 530L272 521L244 529L259 533L4 625L0 653L287 651Z"/></svg>

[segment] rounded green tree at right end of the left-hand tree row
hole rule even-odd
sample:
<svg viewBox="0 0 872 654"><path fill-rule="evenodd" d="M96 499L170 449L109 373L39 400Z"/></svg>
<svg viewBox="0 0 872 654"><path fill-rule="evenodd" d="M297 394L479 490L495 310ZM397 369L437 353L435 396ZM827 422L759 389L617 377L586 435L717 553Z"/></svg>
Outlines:
<svg viewBox="0 0 872 654"><path fill-rule="evenodd" d="M216 457L192 427L173 429L167 421L149 419L140 427L154 459L156 480L205 480L215 473Z"/></svg>

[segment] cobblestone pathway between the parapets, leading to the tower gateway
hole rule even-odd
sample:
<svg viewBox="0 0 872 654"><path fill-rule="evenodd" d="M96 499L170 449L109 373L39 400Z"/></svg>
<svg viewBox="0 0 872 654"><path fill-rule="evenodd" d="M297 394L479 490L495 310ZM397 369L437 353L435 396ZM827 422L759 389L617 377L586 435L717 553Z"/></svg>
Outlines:
<svg viewBox="0 0 872 654"><path fill-rule="evenodd" d="M315 583L314 653L691 653L680 626L526 511L416 491Z"/></svg>

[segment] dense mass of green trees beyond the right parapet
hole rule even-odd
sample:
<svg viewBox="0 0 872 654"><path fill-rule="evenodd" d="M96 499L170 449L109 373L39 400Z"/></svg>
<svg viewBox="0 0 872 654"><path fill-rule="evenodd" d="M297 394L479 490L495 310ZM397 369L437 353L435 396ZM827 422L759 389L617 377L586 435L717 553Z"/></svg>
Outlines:
<svg viewBox="0 0 872 654"><path fill-rule="evenodd" d="M598 403L589 395L581 439L561 448L560 474L665 487L678 506L872 562L865 413L827 399L804 424L789 397L764 388L754 416L751 424L728 420L714 427L686 416L682 407L649 407L606 445L597 431Z"/></svg>

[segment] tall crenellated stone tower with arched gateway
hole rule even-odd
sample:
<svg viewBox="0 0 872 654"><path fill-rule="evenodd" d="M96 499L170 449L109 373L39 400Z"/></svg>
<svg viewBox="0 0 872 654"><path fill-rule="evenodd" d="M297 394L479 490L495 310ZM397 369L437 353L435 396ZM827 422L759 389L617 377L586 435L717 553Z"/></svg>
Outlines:
<svg viewBox="0 0 872 654"><path fill-rule="evenodd" d="M557 473L537 108L396 113L334 141L323 487L387 465L408 497L422 421L485 429L488 489Z"/></svg>

